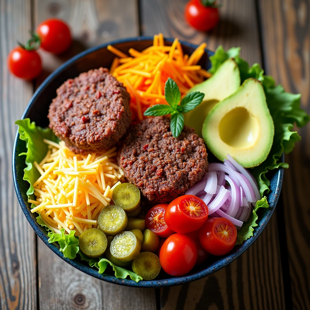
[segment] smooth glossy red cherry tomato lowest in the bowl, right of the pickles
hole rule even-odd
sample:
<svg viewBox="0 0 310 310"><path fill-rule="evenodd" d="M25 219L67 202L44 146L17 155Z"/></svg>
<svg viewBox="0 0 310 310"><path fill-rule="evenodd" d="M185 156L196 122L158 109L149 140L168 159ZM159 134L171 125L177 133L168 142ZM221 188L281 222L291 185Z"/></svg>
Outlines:
<svg viewBox="0 0 310 310"><path fill-rule="evenodd" d="M176 233L166 239L159 253L162 268L171 276L182 276L195 266L197 247L186 234Z"/></svg>

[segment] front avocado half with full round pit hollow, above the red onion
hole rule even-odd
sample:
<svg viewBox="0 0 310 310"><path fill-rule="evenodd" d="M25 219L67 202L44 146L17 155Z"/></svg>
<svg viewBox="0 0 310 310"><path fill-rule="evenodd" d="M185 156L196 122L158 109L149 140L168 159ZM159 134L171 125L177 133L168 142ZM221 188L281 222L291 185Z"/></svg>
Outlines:
<svg viewBox="0 0 310 310"><path fill-rule="evenodd" d="M243 167L254 167L268 156L274 136L262 84L249 78L215 105L202 126L210 151L221 161L231 155Z"/></svg>

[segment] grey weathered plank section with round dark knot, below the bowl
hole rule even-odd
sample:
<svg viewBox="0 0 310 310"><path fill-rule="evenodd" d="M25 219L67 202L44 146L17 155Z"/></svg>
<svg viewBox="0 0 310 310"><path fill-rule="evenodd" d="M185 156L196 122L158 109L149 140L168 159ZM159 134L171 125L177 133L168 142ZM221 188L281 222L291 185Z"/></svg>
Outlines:
<svg viewBox="0 0 310 310"><path fill-rule="evenodd" d="M65 263L39 239L41 309L155 310L153 289L118 286L95 279Z"/></svg>

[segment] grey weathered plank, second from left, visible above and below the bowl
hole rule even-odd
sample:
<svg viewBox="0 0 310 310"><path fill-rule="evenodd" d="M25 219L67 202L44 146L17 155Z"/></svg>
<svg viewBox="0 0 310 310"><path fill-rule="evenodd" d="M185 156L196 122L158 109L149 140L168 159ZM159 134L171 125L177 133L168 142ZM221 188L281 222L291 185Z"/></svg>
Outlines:
<svg viewBox="0 0 310 310"><path fill-rule="evenodd" d="M41 52L46 72L86 47L138 34L135 1L35 1L35 25L49 17L66 20L74 35L64 55ZM39 302L42 309L156 309L155 290L109 284L76 270L38 241Z"/></svg>

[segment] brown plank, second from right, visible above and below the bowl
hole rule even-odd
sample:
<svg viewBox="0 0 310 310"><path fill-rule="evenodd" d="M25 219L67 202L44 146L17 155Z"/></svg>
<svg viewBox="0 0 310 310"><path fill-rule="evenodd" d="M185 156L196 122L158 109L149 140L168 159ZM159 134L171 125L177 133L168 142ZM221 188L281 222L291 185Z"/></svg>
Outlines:
<svg viewBox="0 0 310 310"><path fill-rule="evenodd" d="M143 34L162 32L211 50L241 47L250 64L262 62L255 1L223 1L222 20L210 33L196 32L183 18L187 1L142 0ZM284 309L277 218L273 215L259 239L241 257L218 272L183 286L161 290L161 308Z"/></svg>

